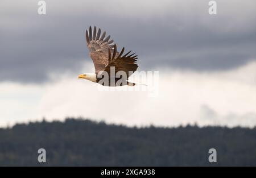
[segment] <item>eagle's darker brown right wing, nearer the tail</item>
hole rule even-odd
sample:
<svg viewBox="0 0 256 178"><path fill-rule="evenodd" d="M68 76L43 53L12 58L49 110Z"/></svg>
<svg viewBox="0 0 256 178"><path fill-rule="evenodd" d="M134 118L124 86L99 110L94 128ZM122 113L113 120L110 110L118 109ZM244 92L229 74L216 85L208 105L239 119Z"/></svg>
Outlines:
<svg viewBox="0 0 256 178"><path fill-rule="evenodd" d="M123 71L126 73L127 78L133 74L138 69L137 64L137 56L134 56L135 53L129 55L129 52L127 52L125 55L123 55L123 52L125 51L125 48L122 48L122 51L117 56L117 45L114 44L114 50L113 54L111 50L109 49L109 64L106 66L105 70L110 74L110 67L115 67L115 73L119 71ZM129 55L129 56L128 56Z"/></svg>

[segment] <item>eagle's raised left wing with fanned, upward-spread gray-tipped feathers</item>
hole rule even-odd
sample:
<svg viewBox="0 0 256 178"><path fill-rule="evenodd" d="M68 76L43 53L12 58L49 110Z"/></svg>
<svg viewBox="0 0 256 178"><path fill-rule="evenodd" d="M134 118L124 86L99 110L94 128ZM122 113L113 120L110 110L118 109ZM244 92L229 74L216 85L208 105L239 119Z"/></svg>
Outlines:
<svg viewBox="0 0 256 178"><path fill-rule="evenodd" d="M89 33L86 30L86 42L87 47L89 48L90 57L93 60L93 64L95 67L95 72L104 71L106 65L108 65L108 52L109 48L113 50L114 45L112 44L114 41L109 40L110 35L106 36L106 32L104 31L101 35L101 28L96 29L94 26L93 32L92 27L89 28Z"/></svg>

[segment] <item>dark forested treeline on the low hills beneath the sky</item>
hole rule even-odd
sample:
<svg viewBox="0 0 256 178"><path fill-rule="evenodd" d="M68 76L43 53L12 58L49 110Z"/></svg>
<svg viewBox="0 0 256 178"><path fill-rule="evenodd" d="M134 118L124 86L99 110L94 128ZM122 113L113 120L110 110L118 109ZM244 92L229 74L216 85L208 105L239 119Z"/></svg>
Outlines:
<svg viewBox="0 0 256 178"><path fill-rule="evenodd" d="M38 163L38 149L46 163ZM208 162L210 148L217 163ZM256 129L129 128L82 119L0 129L0 166L256 165Z"/></svg>

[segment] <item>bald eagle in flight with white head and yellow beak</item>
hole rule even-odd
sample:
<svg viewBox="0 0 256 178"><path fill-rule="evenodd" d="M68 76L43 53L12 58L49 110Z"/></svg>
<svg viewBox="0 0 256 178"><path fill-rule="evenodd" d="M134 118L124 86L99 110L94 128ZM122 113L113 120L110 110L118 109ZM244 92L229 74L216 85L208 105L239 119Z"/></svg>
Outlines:
<svg viewBox="0 0 256 178"><path fill-rule="evenodd" d="M113 44L113 40L109 40L110 36L105 38L106 32L104 31L101 35L101 29L97 31L95 26L93 32L92 27L89 27L89 33L86 30L85 36L95 73L80 74L79 78L104 86L134 86L133 82L127 80L138 68L138 57L135 53L130 54L131 51L129 51L123 55L124 47L121 52L118 52L117 45Z"/></svg>

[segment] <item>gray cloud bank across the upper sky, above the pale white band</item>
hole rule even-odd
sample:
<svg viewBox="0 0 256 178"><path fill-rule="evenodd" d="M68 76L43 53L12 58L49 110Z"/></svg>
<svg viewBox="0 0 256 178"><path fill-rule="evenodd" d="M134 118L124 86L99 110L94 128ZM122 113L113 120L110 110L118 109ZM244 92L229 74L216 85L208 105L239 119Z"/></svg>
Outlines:
<svg viewBox="0 0 256 178"><path fill-rule="evenodd" d="M119 48L137 52L141 69L216 71L255 60L256 13L244 8L240 13L243 6L255 6L254 1L247 6L237 1L241 7L233 1L218 3L216 16L207 14L205 1L104 2L47 2L45 16L30 1L23 9L5 8L0 17L0 81L42 82L49 72L79 70L90 60L84 35L89 25L106 30Z"/></svg>

